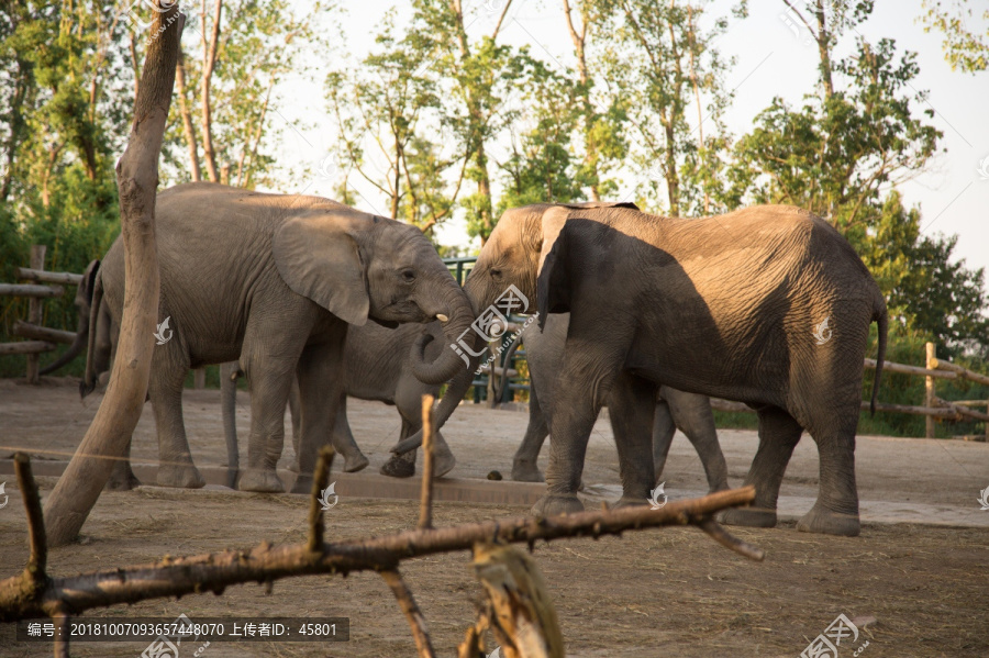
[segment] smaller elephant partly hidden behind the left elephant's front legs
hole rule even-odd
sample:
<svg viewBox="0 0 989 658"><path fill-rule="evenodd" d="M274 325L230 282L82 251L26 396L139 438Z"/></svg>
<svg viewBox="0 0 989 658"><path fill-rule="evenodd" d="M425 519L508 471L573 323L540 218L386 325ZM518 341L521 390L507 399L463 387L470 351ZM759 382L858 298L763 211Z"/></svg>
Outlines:
<svg viewBox="0 0 989 658"><path fill-rule="evenodd" d="M331 444L343 456L345 472L356 472L368 465L367 457L354 440L351 425L347 422L347 397L360 400L374 400L395 405L402 419L400 439L410 436L422 427L422 397L434 398L440 394L438 384L423 383L412 372L411 349L419 335L426 331L433 342L426 347L429 360L438 358L443 350L443 328L438 322L430 323L425 328L404 324L390 330L375 323L364 326L352 326L347 332L343 352L344 390L341 393L340 409L333 426ZM241 375L234 369L232 376L221 378L221 399L223 404L223 432L227 437L227 465L234 465L237 457L237 428L234 409L236 405L235 380ZM292 386L289 408L292 416L292 444L296 448L296 462L292 470L299 470L299 438L301 413L299 409L298 383ZM456 459L440 432L435 434L434 477L443 477L453 470ZM232 451L231 451L232 447ZM415 475L415 453L393 455L381 466L381 473L396 478L409 478Z"/></svg>

